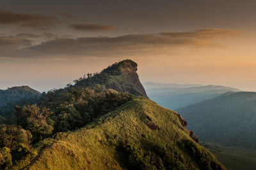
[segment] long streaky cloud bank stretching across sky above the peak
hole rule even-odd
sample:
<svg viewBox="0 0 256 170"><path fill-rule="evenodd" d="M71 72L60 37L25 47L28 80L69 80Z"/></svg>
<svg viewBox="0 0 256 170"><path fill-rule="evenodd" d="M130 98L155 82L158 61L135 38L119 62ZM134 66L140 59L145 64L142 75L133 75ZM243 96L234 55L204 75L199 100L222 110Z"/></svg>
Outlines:
<svg viewBox="0 0 256 170"><path fill-rule="evenodd" d="M39 45L23 48L19 57L120 56L140 53L168 53L179 47L218 46L215 40L236 36L236 30L203 29L193 32L160 32L158 34L129 34L116 37L70 38L58 36ZM15 57L15 56L14 56Z"/></svg>

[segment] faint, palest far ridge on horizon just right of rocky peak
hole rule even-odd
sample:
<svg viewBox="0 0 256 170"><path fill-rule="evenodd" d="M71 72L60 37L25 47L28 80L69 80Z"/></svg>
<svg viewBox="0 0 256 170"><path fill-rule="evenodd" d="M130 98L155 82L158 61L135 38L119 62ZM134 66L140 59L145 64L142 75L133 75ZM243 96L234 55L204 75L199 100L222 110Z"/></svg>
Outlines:
<svg viewBox="0 0 256 170"><path fill-rule="evenodd" d="M154 83L148 81L143 83L145 89L163 89L163 88L189 88L189 87L198 87L202 86L200 84L178 84L178 83Z"/></svg>

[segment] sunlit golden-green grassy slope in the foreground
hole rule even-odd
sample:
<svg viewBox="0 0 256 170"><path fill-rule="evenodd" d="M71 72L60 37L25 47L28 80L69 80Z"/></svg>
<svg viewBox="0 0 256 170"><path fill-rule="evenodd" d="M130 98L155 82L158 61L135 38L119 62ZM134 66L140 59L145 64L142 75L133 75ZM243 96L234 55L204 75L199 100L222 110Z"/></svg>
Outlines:
<svg viewBox="0 0 256 170"><path fill-rule="evenodd" d="M161 129L150 129L147 125L150 122ZM127 169L121 163L125 158L122 159L122 153L118 152L119 143L142 147L150 142L171 146L181 153L186 164L196 166L188 152L180 149L178 143L182 139L192 141L189 132L182 128L175 111L162 108L149 99L136 98L82 129L59 134L54 140L45 140L44 144L50 146L42 149L27 168ZM197 143L195 145L218 163L212 153Z"/></svg>

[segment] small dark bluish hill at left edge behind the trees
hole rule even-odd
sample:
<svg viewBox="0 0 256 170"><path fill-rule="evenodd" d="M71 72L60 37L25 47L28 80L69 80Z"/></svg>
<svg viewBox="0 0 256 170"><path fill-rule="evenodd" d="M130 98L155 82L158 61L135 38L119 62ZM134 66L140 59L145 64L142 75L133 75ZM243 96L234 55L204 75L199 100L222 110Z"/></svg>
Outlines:
<svg viewBox="0 0 256 170"><path fill-rule="evenodd" d="M20 99L35 98L41 95L40 92L31 89L28 86L12 87L7 90L0 90L0 106L9 102L19 101Z"/></svg>

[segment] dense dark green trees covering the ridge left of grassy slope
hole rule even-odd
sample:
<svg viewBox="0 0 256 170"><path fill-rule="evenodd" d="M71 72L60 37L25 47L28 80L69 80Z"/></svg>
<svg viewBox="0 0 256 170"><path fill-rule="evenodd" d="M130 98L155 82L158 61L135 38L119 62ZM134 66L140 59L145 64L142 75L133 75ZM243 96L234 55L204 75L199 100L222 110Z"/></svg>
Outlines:
<svg viewBox="0 0 256 170"><path fill-rule="evenodd" d="M131 94L115 90L81 88L48 92L38 105L16 106L15 113L0 126L0 167L22 168L38 154L33 147L36 143L58 132L79 129L131 99Z"/></svg>

